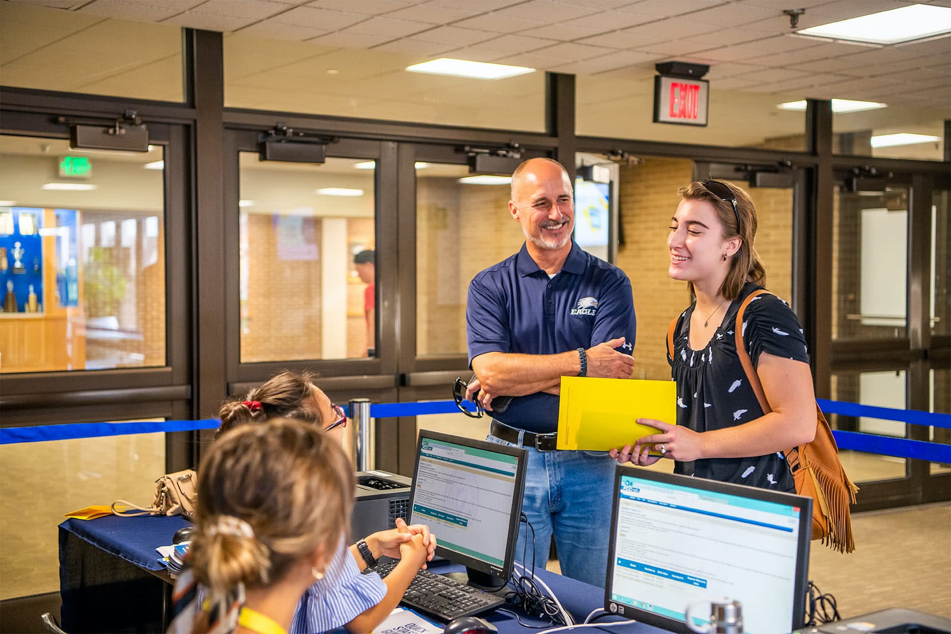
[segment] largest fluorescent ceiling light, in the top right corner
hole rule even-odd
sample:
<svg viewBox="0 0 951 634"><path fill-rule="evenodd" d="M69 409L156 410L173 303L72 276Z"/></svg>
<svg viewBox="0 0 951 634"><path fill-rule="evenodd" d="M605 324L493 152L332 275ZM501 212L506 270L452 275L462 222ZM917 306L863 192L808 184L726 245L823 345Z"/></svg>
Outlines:
<svg viewBox="0 0 951 634"><path fill-rule="evenodd" d="M911 5L801 29L800 35L866 44L899 44L951 32L951 9Z"/></svg>

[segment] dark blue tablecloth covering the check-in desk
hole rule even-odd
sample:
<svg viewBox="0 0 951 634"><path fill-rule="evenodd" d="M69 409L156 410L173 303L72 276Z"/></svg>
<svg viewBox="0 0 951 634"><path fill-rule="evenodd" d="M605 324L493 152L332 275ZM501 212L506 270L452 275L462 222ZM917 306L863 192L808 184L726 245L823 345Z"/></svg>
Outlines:
<svg viewBox="0 0 951 634"><path fill-rule="evenodd" d="M172 580L159 561L155 548L167 546L179 528L188 526L181 517L102 517L69 519L60 525L60 589L63 595L63 628L79 632L165 631ZM448 561L430 569L437 574L463 568ZM536 570L578 623L604 605L604 590L547 570ZM544 625L520 610L526 624ZM537 631L524 627L514 616L493 612L486 619L501 633ZM607 617L605 623L617 620ZM601 621L599 621L600 623ZM587 628L599 631L600 628ZM584 631L584 630L582 630ZM612 625L604 631L656 634L646 624Z"/></svg>

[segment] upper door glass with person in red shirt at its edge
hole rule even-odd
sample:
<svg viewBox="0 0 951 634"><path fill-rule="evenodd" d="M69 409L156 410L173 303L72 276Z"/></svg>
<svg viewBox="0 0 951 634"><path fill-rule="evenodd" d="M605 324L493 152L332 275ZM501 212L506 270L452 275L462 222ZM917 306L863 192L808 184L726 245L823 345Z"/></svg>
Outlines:
<svg viewBox="0 0 951 634"><path fill-rule="evenodd" d="M242 362L366 356L376 290L355 259L376 244L372 162L240 165Z"/></svg>

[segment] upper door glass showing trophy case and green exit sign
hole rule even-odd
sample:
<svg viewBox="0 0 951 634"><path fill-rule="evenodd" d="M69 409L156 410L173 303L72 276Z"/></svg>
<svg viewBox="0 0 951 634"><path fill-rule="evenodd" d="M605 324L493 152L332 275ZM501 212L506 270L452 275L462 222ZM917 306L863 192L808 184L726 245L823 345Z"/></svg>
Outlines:
<svg viewBox="0 0 951 634"><path fill-rule="evenodd" d="M0 136L0 372L165 365L162 158Z"/></svg>

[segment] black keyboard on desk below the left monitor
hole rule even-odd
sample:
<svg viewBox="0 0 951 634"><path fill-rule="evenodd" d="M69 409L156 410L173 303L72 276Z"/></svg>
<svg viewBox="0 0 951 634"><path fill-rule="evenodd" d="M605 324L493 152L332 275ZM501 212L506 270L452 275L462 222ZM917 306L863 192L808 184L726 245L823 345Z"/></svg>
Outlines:
<svg viewBox="0 0 951 634"><path fill-rule="evenodd" d="M398 563L396 559L383 560L374 572L385 577ZM448 622L460 616L492 611L504 605L505 600L429 570L419 570L399 603Z"/></svg>

